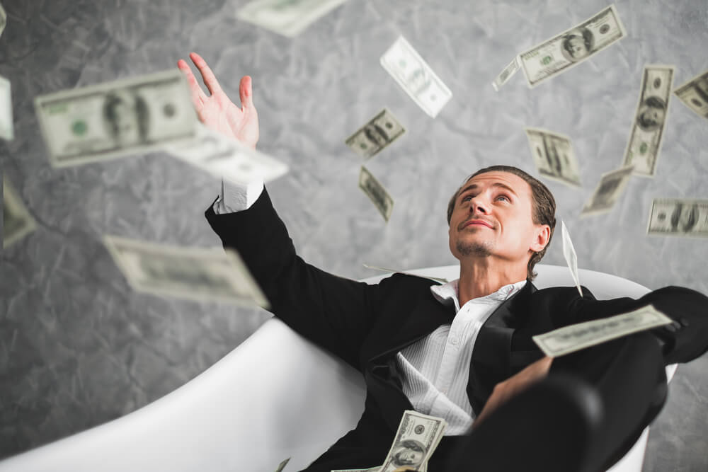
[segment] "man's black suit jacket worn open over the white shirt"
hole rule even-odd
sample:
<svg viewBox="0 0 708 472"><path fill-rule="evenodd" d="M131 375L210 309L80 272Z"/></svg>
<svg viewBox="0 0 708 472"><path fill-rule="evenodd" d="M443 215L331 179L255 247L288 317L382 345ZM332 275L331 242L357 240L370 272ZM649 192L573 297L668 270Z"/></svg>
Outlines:
<svg viewBox="0 0 708 472"><path fill-rule="evenodd" d="M394 274L370 285L305 263L265 190L247 210L217 215L210 206L205 214L224 247L244 259L275 316L358 369L367 386L365 418L367 411L378 410L395 431L403 411L412 409L401 390L396 352L455 316L452 307L433 298L433 282ZM467 393L476 413L498 382L542 357L532 335L560 326L653 304L677 320L654 330L667 363L686 362L708 347L708 299L698 292L666 287L637 300L599 301L583 291L580 297L575 287L538 290L528 282L494 311L472 353Z"/></svg>

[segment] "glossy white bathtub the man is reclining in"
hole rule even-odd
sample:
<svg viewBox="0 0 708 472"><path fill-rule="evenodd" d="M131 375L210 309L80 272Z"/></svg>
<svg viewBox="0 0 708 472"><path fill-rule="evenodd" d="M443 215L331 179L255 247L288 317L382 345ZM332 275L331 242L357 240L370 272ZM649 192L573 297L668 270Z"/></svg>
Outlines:
<svg viewBox="0 0 708 472"><path fill-rule="evenodd" d="M459 266L410 272L452 280ZM572 285L567 267L537 265L539 288ZM641 297L629 280L580 270L598 299ZM366 282L376 282L371 277ZM667 367L670 379L675 365ZM285 471L310 464L355 427L365 386L355 369L273 318L210 369L122 418L0 461L0 472ZM649 428L610 469L640 472Z"/></svg>

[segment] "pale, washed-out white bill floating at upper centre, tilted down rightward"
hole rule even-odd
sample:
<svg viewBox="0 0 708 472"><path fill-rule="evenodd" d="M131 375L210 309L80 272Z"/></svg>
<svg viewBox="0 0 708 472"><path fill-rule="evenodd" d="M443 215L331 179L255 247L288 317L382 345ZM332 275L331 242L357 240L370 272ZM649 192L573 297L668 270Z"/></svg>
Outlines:
<svg viewBox="0 0 708 472"><path fill-rule="evenodd" d="M430 117L436 117L452 98L450 88L403 36L384 52L379 62Z"/></svg>

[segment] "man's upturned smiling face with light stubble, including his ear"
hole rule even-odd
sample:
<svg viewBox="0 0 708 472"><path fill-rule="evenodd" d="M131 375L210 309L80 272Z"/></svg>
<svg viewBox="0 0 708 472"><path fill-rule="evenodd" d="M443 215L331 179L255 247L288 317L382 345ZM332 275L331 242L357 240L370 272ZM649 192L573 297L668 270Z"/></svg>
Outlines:
<svg viewBox="0 0 708 472"><path fill-rule="evenodd" d="M523 178L493 171L467 180L450 217L450 251L459 260L492 257L525 265L541 251L547 225L532 220L531 187Z"/></svg>

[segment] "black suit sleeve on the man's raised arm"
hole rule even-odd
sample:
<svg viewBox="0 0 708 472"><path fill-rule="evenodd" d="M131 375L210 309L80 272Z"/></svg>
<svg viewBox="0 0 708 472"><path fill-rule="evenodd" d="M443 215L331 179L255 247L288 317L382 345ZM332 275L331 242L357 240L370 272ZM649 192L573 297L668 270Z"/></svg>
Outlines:
<svg viewBox="0 0 708 472"><path fill-rule="evenodd" d="M267 190L241 212L205 212L224 248L241 255L270 302L292 329L360 369L360 347L376 318L382 284L331 275L295 253Z"/></svg>

